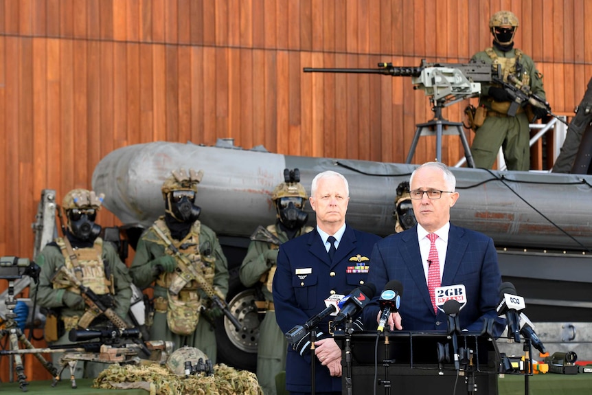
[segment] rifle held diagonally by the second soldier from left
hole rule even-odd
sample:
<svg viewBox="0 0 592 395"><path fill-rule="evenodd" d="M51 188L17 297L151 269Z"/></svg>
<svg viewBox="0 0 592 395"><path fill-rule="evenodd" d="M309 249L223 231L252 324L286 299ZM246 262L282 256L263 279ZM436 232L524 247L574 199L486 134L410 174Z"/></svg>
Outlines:
<svg viewBox="0 0 592 395"><path fill-rule="evenodd" d="M203 278L203 275L198 273L189 258L183 255L183 253L172 244L172 241L169 240L166 234L164 234L157 225L152 225L152 229L154 229L156 234L163 240L163 242L165 242L166 246L177 260L177 269L175 270L177 271L177 279L179 280L176 283L171 284L168 291L173 295L177 295L187 282L195 280L207 298L212 301L212 304L220 308L237 330L242 330L242 326L238 322L238 319L236 319L236 317L234 317L229 311L228 304L218 296L216 290L205 280L205 278Z"/></svg>

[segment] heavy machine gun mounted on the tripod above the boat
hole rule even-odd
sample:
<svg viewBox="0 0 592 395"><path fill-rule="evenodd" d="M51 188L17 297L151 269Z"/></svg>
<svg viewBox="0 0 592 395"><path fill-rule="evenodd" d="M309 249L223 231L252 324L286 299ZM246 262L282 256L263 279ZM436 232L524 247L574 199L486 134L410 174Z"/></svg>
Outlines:
<svg viewBox="0 0 592 395"><path fill-rule="evenodd" d="M397 67L392 63L378 63L378 69L315 69L304 67L305 73L383 74L392 77L411 77L413 89L430 96L437 106L446 107L481 92L481 82L490 83L499 76L496 66L484 62L426 63L419 67Z"/></svg>

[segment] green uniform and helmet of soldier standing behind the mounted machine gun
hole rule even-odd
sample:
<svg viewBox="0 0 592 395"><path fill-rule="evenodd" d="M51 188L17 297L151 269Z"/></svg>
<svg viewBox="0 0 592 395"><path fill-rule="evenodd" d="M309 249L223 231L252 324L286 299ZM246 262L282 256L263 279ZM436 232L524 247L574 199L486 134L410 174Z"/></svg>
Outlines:
<svg viewBox="0 0 592 395"><path fill-rule="evenodd" d="M490 27L511 25L518 27L518 19L511 12L501 11L492 16ZM513 40L513 38L512 38ZM536 69L536 65L530 56L520 49L502 51L499 45L489 47L473 56L471 60L497 64L501 67L503 80L506 81L509 74L516 75L521 67L519 79L530 87L532 93L545 99L542 75ZM513 41L512 41L513 45ZM519 66L521 65L521 66ZM492 168L499 148L503 149L505 163L508 170L530 169L530 128L527 111L521 107L516 116L507 115L510 102L496 102L490 95L491 85L482 84L479 106L487 109L487 117L482 126L475 131L475 139L470 147L471 154L477 168Z"/></svg>

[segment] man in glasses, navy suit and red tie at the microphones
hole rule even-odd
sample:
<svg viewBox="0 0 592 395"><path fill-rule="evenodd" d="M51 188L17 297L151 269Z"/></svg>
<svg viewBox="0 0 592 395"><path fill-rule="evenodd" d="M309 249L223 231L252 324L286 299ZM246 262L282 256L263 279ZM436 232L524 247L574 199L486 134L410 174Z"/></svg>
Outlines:
<svg viewBox="0 0 592 395"><path fill-rule="evenodd" d="M503 331L504 322L496 313L501 284L497 252L488 236L450 223L451 207L459 197L455 186L454 174L442 163L415 169L410 196L418 225L380 240L372 251L368 282L378 290L389 280L403 286L399 311L387 321L391 330L447 330L446 315L436 308L429 288L464 284L461 329L480 332L486 319L493 319L494 335ZM366 328L380 319L376 300L364 311Z"/></svg>

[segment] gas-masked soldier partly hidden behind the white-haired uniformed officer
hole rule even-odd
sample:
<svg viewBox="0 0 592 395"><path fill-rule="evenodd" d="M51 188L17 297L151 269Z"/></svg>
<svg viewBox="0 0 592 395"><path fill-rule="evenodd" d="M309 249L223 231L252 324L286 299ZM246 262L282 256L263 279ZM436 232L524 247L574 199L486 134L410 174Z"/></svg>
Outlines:
<svg viewBox="0 0 592 395"><path fill-rule="evenodd" d="M275 273L277 252L283 242L313 228L306 226L308 214L304 205L308 196L300 183L298 169L284 170L284 182L273 190L276 221L267 227L259 226L253 235L247 256L240 266L240 281L244 286L259 284L262 299L255 302L265 314L259 327L257 379L265 395L275 395L275 375L286 365L286 337L275 321L271 284Z"/></svg>

